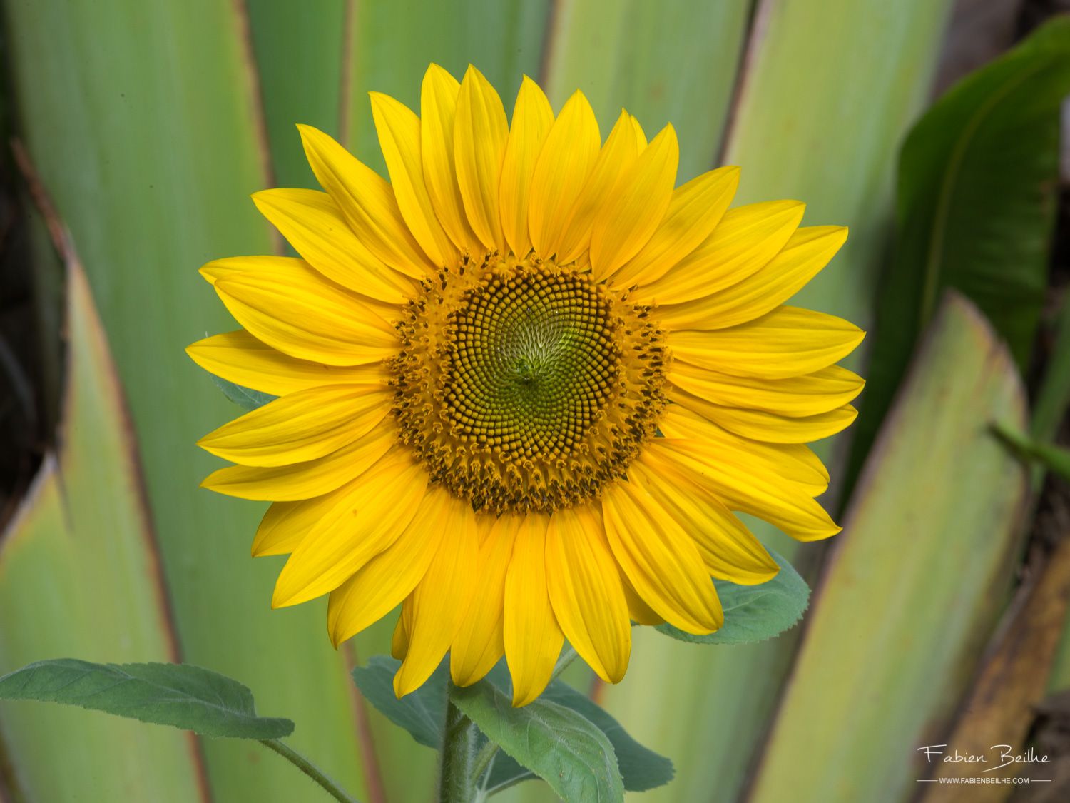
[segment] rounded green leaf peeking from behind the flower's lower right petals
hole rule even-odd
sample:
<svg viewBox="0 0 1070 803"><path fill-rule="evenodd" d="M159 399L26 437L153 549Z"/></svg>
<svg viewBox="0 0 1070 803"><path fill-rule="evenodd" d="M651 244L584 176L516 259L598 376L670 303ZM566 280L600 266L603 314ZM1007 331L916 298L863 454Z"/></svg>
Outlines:
<svg viewBox="0 0 1070 803"><path fill-rule="evenodd" d="M714 580L724 608L724 626L706 636L696 636L659 624L667 636L698 645L748 645L773 638L802 618L810 601L810 587L786 560L776 552L769 555L780 564L780 572L760 586L737 586L728 580Z"/></svg>

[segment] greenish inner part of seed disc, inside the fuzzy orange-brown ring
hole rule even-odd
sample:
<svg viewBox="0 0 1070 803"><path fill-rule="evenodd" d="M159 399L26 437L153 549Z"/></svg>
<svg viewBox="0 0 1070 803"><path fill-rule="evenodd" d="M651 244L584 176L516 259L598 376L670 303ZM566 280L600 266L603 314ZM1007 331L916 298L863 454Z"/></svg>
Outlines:
<svg viewBox="0 0 1070 803"><path fill-rule="evenodd" d="M461 441L516 457L579 445L618 373L610 306L587 278L491 276L452 323L444 399Z"/></svg>

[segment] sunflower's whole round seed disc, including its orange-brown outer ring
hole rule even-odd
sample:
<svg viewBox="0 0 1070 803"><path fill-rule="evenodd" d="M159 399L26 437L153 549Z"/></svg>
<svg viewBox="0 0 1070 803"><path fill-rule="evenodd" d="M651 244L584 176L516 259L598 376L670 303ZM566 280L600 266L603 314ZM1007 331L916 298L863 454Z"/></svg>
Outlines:
<svg viewBox="0 0 1070 803"><path fill-rule="evenodd" d="M647 312L551 261L488 255L441 271L410 302L391 362L402 440L476 507L597 496L666 404Z"/></svg>

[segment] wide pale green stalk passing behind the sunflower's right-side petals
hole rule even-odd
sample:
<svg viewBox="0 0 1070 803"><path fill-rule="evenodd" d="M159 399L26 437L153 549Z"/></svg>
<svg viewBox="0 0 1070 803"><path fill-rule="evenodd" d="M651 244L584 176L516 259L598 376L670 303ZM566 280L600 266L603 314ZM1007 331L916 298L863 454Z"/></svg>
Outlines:
<svg viewBox="0 0 1070 803"><path fill-rule="evenodd" d="M743 169L737 201L798 198L807 202L807 225L851 227L844 248L791 303L868 324L892 214L895 154L928 99L950 5L950 0L756 4L721 160ZM694 77L683 62L675 67L687 81L720 78ZM670 118L678 113L672 109ZM693 147L682 138L683 151ZM835 479L840 472L829 460L834 443L819 443L817 450ZM820 545L799 547L771 527L751 524L763 542L797 565L813 563L820 554ZM655 631L637 628L628 676L605 694L608 710L624 727L676 763L677 781L651 792L651 803L705 800L714 788L723 800L737 794L796 632L767 643L706 650L667 643Z"/></svg>

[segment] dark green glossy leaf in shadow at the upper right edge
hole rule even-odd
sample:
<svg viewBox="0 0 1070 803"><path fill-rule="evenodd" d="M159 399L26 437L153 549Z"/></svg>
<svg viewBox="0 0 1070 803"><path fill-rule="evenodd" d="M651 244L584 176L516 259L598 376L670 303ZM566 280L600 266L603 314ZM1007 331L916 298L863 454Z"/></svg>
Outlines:
<svg viewBox="0 0 1070 803"><path fill-rule="evenodd" d="M851 475L945 288L977 304L1019 366L1027 363L1046 286L1068 92L1064 17L956 85L903 145L896 258L878 296Z"/></svg>

